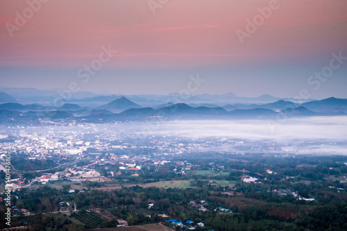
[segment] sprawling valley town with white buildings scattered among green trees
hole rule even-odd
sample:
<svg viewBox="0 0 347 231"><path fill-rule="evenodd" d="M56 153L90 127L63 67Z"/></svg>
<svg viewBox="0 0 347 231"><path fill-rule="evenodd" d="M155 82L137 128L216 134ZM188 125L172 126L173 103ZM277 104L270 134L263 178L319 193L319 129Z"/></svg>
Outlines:
<svg viewBox="0 0 347 231"><path fill-rule="evenodd" d="M267 219L293 228L303 217L298 209L347 199L346 157L298 155L312 141L178 137L126 126L1 130L0 157L11 156L12 176L0 189L12 192L18 227L29 226L20 217L45 213L54 221L69 215L63 218L79 229L154 222L176 230L223 230L228 225L246 230L259 225L262 207L268 207ZM35 199L37 191L46 196ZM6 200L3 196L1 203ZM248 203L260 205L259 211L246 216ZM281 203L291 204L289 226L281 223L289 216Z"/></svg>

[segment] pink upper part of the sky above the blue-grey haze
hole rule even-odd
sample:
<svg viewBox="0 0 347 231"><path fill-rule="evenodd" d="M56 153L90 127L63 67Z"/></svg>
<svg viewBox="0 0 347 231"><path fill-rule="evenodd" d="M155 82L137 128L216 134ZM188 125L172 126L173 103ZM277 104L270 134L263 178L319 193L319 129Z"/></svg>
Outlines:
<svg viewBox="0 0 347 231"><path fill-rule="evenodd" d="M33 1L33 0L29 0ZM50 0L10 37L27 1L1 1L1 66L76 67L111 45L108 67L185 67L307 59L346 49L347 1L278 1L279 8L239 42L237 29L270 1Z"/></svg>

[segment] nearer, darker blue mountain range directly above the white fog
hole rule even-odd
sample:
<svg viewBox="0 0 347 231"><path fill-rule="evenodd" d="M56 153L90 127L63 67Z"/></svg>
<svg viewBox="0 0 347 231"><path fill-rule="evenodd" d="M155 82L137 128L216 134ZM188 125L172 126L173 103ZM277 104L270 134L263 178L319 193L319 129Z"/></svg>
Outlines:
<svg viewBox="0 0 347 231"><path fill-rule="evenodd" d="M142 107L124 96L96 108L65 103L53 108L40 104L2 103L0 123L37 121L88 121L107 123L114 121L162 119L271 119L279 114L287 117L312 117L347 115L347 99L334 97L321 101L294 103L278 100L263 104L215 104L165 103L156 107Z"/></svg>

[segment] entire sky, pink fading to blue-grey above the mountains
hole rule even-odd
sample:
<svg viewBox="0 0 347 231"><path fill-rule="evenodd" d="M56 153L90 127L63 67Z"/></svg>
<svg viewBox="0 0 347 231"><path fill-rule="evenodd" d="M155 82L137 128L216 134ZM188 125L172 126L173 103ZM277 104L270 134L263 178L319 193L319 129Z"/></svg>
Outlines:
<svg viewBox="0 0 347 231"><path fill-rule="evenodd" d="M0 0L0 87L347 98L346 8L340 0ZM196 76L203 82L192 87Z"/></svg>

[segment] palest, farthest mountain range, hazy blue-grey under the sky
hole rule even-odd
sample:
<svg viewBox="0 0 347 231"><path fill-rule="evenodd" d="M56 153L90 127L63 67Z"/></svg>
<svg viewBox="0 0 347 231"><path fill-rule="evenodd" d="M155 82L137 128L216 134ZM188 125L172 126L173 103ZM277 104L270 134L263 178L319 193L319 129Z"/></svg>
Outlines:
<svg viewBox="0 0 347 231"><path fill-rule="evenodd" d="M66 90L65 90L66 91ZM65 103L75 103L81 106L87 106L96 108L111 101L119 99L121 96L125 96L130 101L142 105L144 107L155 107L160 104L167 102L174 103L187 103L187 104L199 104L199 105L227 105L236 103L273 103L275 101L281 100L276 96L271 96L269 94L264 94L259 97L240 97L232 92L226 94L197 94L197 95L185 95L182 96L178 93L172 93L168 95L155 95L155 94L133 94L133 95L98 95L92 92L74 92L67 94L61 89L35 89L35 88L19 88L19 87L0 87L0 92L7 94L12 97L11 99L6 99L0 95L0 103L13 103L19 102L24 104L39 103L46 105L47 103L54 101L65 101ZM13 101L15 100L15 101ZM284 101L297 101L292 98L285 98ZM312 100L307 100L312 101Z"/></svg>

